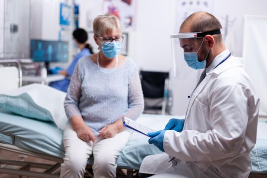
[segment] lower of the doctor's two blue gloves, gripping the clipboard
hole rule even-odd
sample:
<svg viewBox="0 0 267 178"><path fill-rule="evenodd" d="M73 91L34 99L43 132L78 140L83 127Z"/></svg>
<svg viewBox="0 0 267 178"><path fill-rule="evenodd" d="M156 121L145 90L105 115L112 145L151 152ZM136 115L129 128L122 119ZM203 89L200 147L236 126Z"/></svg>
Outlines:
<svg viewBox="0 0 267 178"><path fill-rule="evenodd" d="M157 132L149 132L147 135L151 136L152 138L149 139L150 144L154 144L158 147L162 152L165 152L163 149L163 138L166 130L159 130Z"/></svg>

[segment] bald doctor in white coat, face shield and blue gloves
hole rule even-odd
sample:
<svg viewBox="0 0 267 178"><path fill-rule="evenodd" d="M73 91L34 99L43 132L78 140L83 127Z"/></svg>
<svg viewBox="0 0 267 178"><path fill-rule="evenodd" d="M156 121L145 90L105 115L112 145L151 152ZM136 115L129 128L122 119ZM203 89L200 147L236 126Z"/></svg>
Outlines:
<svg viewBox="0 0 267 178"><path fill-rule="evenodd" d="M196 12L182 23L179 34L171 36L180 40L187 65L204 70L191 95L185 123L172 119L165 130L149 133L153 137L149 142L166 154L146 157L140 173L156 174L152 177L249 176L259 99L242 58L226 49L221 28L213 15Z"/></svg>

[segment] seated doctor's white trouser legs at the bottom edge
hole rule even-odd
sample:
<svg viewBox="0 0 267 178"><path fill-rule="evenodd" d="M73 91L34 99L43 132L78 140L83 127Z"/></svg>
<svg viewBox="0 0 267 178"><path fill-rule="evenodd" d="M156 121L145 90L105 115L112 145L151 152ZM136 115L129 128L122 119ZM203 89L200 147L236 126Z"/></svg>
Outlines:
<svg viewBox="0 0 267 178"><path fill-rule="evenodd" d="M140 166L140 173L155 174L151 178L217 178L221 177L216 170L209 168L201 170L194 163L176 159L175 164L169 162L167 154L146 156Z"/></svg>

